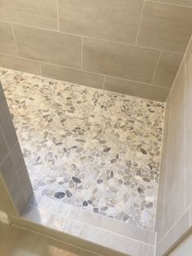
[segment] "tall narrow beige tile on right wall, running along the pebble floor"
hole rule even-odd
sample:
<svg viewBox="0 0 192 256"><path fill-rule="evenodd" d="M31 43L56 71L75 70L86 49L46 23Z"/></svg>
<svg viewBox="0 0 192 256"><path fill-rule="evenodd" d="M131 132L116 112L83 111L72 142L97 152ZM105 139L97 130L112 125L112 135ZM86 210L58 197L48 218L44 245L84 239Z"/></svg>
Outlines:
<svg viewBox="0 0 192 256"><path fill-rule="evenodd" d="M182 62L171 92L169 133L168 133L168 173L166 175L165 196L185 170L185 64Z"/></svg>

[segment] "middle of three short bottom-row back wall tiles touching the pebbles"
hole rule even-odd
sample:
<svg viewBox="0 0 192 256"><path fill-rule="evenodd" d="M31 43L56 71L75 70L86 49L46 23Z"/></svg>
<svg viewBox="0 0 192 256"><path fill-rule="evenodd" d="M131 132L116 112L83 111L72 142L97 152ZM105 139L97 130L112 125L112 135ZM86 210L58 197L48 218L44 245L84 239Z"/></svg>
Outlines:
<svg viewBox="0 0 192 256"><path fill-rule="evenodd" d="M51 64L41 64L42 76L72 82L82 86L91 86L103 89L104 76L94 73L82 72L70 68L59 67Z"/></svg>

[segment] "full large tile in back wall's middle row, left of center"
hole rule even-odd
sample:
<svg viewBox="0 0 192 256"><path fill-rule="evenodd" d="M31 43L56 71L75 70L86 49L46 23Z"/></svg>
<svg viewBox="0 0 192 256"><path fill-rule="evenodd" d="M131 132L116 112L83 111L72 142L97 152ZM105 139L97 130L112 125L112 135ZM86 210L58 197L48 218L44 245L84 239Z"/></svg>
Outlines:
<svg viewBox="0 0 192 256"><path fill-rule="evenodd" d="M20 56L81 68L81 37L14 25Z"/></svg>

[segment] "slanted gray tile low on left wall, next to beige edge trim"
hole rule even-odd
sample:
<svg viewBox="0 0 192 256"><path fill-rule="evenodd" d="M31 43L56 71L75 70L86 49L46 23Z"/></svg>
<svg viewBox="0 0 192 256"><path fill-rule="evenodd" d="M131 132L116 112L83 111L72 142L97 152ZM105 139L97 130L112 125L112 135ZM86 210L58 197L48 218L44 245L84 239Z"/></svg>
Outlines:
<svg viewBox="0 0 192 256"><path fill-rule="evenodd" d="M26 208L26 200L21 188L20 180L18 179L11 157L8 156L0 165L2 179L7 186L11 199L15 204L18 213L21 214Z"/></svg>

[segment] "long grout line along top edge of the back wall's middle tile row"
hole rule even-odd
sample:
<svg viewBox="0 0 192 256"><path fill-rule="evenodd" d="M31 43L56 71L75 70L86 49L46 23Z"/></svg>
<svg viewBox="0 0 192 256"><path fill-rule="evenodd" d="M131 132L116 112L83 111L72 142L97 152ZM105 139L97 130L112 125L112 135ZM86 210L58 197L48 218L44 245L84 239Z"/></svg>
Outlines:
<svg viewBox="0 0 192 256"><path fill-rule="evenodd" d="M0 20L0 22L1 21L6 22L6 23L10 23L9 21ZM77 34L77 33L68 33L68 32L63 32L63 31L57 31L57 30L54 30L54 29L46 29L46 28L42 28L42 27L24 25L24 24L20 24L20 23L15 23L15 24L23 26L23 27L28 27L28 28L31 28L31 29L41 29L41 30L46 30L46 31L50 31L50 32L55 32L55 33L63 33L63 34L74 36L74 37L82 37L82 38L89 38L89 39L94 39L94 40L98 40L98 41L103 41L103 42L117 43L117 44L124 45L124 46L134 46L134 47L138 47L138 48L142 48L142 49L162 51L162 52L168 52L168 53L179 54L179 55L184 54L183 52L168 51L168 50L149 47L149 46L139 46L139 45L136 46L135 44L129 43L129 42L111 41L111 40L107 40L107 39L103 39L103 38L94 38L94 37L84 36L84 35Z"/></svg>

